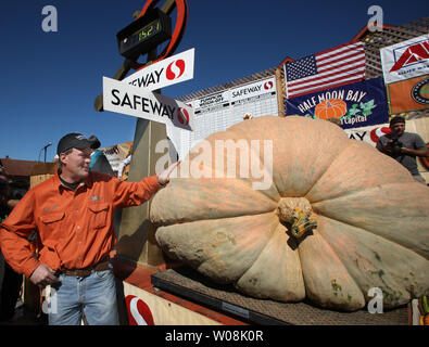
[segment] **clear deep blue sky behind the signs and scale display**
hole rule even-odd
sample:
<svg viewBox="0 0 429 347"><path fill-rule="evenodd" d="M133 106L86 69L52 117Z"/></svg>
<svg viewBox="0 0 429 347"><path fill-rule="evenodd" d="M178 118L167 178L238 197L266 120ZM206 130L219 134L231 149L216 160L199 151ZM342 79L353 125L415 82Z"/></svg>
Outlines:
<svg viewBox="0 0 429 347"><path fill-rule="evenodd" d="M116 33L141 0L5 0L0 4L0 157L52 160L62 136L96 134L102 146L131 141L136 118L96 112L102 76L123 62ZM164 1L160 1L163 4ZM404 3L406 5L404 5ZM162 93L178 98L350 41L380 5L383 22L401 25L429 14L424 0L188 0L185 37L176 53L195 49L194 77ZM42 9L54 5L58 31L45 33Z"/></svg>

